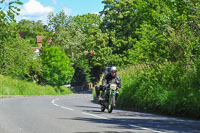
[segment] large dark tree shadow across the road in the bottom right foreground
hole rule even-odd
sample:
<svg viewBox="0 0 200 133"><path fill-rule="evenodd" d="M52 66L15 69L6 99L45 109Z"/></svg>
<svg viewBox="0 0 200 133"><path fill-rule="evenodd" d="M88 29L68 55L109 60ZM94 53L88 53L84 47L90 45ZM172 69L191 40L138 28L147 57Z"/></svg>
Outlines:
<svg viewBox="0 0 200 133"><path fill-rule="evenodd" d="M87 121L92 123L106 124L108 128L115 127L121 129L137 129L148 128L158 132L177 132L177 133L200 133L200 126L193 122L178 122L171 120L156 120L156 119L139 119L139 118L82 118L77 117L73 120Z"/></svg>

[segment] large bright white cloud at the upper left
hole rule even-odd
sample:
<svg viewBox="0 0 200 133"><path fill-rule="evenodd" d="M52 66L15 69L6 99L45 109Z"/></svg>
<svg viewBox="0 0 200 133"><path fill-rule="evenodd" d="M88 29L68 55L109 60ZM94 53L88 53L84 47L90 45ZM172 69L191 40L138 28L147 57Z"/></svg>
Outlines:
<svg viewBox="0 0 200 133"><path fill-rule="evenodd" d="M44 16L48 15L48 13L52 12L53 10L53 7L45 7L36 0L29 0L28 3L23 5L20 14L22 16Z"/></svg>

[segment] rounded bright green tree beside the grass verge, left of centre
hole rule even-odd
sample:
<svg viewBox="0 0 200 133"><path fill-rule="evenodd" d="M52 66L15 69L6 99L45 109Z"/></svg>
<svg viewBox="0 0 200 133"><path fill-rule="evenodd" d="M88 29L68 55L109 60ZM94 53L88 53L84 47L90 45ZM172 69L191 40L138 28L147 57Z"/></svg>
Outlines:
<svg viewBox="0 0 200 133"><path fill-rule="evenodd" d="M44 47L41 53L43 72L42 81L52 86L61 86L71 82L74 69L70 59L60 47Z"/></svg>

